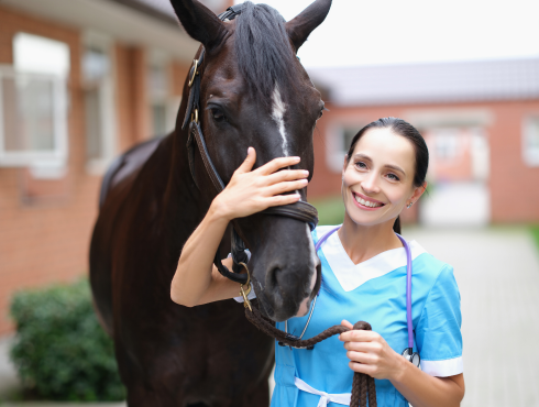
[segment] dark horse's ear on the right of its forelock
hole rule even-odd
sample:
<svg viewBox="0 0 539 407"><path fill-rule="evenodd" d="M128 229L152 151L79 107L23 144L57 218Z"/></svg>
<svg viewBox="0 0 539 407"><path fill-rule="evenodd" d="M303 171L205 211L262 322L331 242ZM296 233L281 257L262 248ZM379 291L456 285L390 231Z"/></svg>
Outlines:
<svg viewBox="0 0 539 407"><path fill-rule="evenodd" d="M286 32L296 52L307 41L310 33L326 20L331 0L317 0L286 23Z"/></svg>

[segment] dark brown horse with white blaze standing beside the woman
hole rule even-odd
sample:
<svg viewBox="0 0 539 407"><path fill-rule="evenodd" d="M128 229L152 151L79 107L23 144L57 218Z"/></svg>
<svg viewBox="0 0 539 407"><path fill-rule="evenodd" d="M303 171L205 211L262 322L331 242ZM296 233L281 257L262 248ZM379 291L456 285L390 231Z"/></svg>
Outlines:
<svg viewBox="0 0 539 407"><path fill-rule="evenodd" d="M241 15L222 22L196 0L172 3L206 51L199 119L224 184L249 146L256 166L298 155L312 174L312 131L323 103L296 52L331 0L317 0L287 23L267 6L245 3ZM114 339L130 406L265 406L274 342L245 320L243 306L170 300L182 248L217 194L197 148L196 183L189 168L182 130L188 95L186 81L176 130L125 153L103 180L90 248L96 308ZM308 227L271 215L233 224L253 254L261 309L274 320L294 316L312 295Z"/></svg>

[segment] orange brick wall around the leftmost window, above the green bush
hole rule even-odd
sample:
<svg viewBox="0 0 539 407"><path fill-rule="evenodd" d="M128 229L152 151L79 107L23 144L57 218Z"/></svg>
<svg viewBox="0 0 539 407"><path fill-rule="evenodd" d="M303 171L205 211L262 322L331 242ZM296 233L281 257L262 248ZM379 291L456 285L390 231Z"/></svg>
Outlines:
<svg viewBox="0 0 539 407"><path fill-rule="evenodd" d="M87 273L99 186L98 177L85 173L79 33L0 7L1 64L12 64L16 32L69 46L69 161L67 176L58 180L34 179L25 168L0 167L0 334L12 329L8 306L14 292Z"/></svg>

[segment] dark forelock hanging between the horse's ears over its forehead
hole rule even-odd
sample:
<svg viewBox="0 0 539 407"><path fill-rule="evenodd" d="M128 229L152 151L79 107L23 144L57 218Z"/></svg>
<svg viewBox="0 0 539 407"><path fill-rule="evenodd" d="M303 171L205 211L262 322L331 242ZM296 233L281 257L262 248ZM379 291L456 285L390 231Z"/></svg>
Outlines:
<svg viewBox="0 0 539 407"><path fill-rule="evenodd" d="M283 89L298 84L299 70L285 19L267 4L244 3L237 18L238 66L253 95L270 102L277 85Z"/></svg>

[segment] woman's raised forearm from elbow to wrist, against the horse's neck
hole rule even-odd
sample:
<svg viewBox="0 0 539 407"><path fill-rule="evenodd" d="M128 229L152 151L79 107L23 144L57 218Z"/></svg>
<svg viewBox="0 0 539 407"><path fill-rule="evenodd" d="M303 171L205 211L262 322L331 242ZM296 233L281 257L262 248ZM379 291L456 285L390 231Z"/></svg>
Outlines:
<svg viewBox="0 0 539 407"><path fill-rule="evenodd" d="M229 220L212 205L182 250L178 266L170 285L173 301L193 307L208 292L212 283L213 256Z"/></svg>

